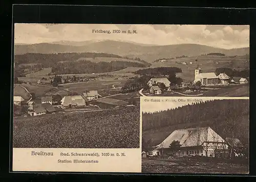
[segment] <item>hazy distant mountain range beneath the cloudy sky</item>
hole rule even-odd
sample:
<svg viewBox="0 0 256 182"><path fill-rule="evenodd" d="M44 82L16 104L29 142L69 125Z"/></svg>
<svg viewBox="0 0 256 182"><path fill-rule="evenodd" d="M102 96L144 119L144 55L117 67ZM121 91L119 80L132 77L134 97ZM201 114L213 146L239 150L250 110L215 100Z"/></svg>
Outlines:
<svg viewBox="0 0 256 182"><path fill-rule="evenodd" d="M37 44L15 44L14 54L40 53L82 53L96 52L117 54L120 56L139 57L152 62L159 58L172 58L177 56L199 56L209 53L223 53L226 56L241 56L249 54L249 48L220 49L200 44L173 44L173 45L149 45L135 42L123 42L113 40L89 40L89 41L57 41Z"/></svg>

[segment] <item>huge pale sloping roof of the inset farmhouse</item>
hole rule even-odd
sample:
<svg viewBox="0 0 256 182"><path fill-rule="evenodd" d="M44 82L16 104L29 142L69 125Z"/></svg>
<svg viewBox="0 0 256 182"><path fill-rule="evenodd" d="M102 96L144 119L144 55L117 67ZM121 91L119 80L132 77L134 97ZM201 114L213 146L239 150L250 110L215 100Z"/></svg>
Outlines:
<svg viewBox="0 0 256 182"><path fill-rule="evenodd" d="M200 136L200 137L199 137ZM213 138L215 136L215 138ZM224 142L224 140L210 127L202 128L187 128L179 129L172 132L161 144L157 145L159 148L169 148L169 145L173 141L179 141L181 147L193 147L202 145L205 141L207 142Z"/></svg>

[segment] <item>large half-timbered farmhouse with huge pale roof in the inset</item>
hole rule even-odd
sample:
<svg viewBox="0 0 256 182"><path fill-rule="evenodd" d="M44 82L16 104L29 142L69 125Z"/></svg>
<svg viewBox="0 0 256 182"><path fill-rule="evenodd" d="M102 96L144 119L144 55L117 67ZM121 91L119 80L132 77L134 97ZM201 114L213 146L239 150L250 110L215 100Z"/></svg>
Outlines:
<svg viewBox="0 0 256 182"><path fill-rule="evenodd" d="M170 148L173 141L179 141L180 147ZM201 155L215 156L215 153L227 153L228 145L210 127L179 129L172 132L162 143L153 147L159 155Z"/></svg>

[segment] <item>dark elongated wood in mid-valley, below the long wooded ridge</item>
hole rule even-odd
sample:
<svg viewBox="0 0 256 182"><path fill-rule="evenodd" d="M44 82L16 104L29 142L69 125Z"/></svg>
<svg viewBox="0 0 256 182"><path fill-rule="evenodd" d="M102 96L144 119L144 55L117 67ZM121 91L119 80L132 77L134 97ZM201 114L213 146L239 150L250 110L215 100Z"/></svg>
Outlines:
<svg viewBox="0 0 256 182"><path fill-rule="evenodd" d="M80 60L63 62L52 66L54 74L106 73L125 69L126 67L146 67L145 64L128 61L91 62Z"/></svg>

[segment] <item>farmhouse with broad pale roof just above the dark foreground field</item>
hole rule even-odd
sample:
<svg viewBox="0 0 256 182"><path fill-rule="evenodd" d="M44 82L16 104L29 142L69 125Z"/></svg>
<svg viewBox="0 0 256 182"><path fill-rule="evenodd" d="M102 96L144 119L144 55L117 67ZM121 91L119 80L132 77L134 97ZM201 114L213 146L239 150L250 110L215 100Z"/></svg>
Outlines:
<svg viewBox="0 0 256 182"><path fill-rule="evenodd" d="M72 107L84 107L86 102L80 95L76 96L65 96L61 99L61 106L64 108L72 108Z"/></svg>

